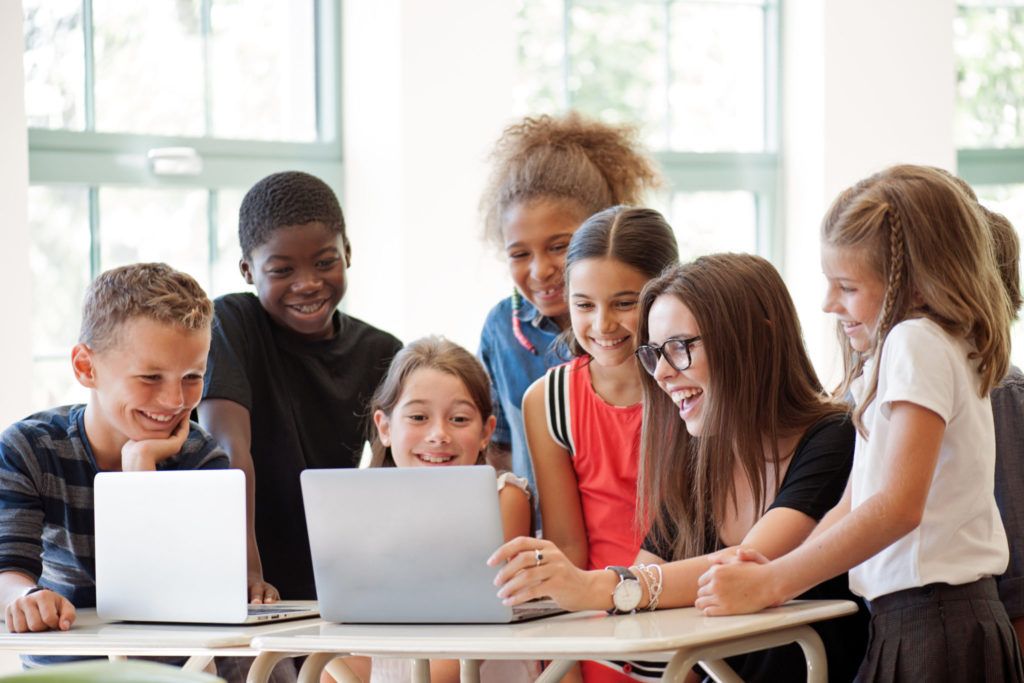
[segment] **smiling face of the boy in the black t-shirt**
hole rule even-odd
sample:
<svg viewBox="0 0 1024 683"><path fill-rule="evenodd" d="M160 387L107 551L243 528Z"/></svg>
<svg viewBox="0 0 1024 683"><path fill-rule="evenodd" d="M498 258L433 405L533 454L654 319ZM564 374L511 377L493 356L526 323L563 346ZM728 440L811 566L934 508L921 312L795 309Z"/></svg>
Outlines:
<svg viewBox="0 0 1024 683"><path fill-rule="evenodd" d="M350 257L341 233L313 221L275 229L239 267L274 323L306 339L328 339Z"/></svg>

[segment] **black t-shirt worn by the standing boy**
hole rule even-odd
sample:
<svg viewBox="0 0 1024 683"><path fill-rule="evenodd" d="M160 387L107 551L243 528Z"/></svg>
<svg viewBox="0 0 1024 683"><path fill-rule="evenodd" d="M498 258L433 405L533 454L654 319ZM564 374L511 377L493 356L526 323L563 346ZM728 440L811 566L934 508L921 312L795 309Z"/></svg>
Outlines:
<svg viewBox="0 0 1024 683"><path fill-rule="evenodd" d="M214 312L203 398L249 411L263 577L286 599L313 599L299 473L358 465L370 398L401 342L339 311L334 337L304 340L252 294L222 296Z"/></svg>

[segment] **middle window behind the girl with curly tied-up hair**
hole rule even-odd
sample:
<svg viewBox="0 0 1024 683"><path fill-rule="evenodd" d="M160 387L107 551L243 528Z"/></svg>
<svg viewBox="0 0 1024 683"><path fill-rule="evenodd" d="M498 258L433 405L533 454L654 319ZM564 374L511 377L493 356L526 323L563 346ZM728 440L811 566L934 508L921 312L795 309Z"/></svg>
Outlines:
<svg viewBox="0 0 1024 683"><path fill-rule="evenodd" d="M684 258L779 261L775 0L521 0L520 114L640 127Z"/></svg>

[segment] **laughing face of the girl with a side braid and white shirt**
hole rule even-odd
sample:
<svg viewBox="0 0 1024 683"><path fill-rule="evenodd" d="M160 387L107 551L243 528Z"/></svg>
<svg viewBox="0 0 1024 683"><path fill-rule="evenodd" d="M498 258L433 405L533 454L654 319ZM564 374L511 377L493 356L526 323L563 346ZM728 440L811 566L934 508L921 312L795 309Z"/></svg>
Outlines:
<svg viewBox="0 0 1024 683"><path fill-rule="evenodd" d="M870 350L886 295L882 279L864 254L828 245L821 248L821 270L828 281L822 310L836 315L855 351Z"/></svg>

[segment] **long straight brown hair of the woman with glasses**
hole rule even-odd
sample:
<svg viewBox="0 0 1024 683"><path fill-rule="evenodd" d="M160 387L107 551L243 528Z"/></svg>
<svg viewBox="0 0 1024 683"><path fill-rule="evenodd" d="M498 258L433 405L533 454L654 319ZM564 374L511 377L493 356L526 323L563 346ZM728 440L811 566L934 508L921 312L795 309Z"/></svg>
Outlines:
<svg viewBox="0 0 1024 683"><path fill-rule="evenodd" d="M796 307L778 271L759 256L714 254L667 269L640 295L640 343L658 297L692 312L700 343L694 362L708 365L703 431L693 437L653 377L643 374L643 430L638 519L674 560L709 552L708 543L741 494L738 465L759 514L768 482L781 483L782 438L846 412L830 401L804 348Z"/></svg>

